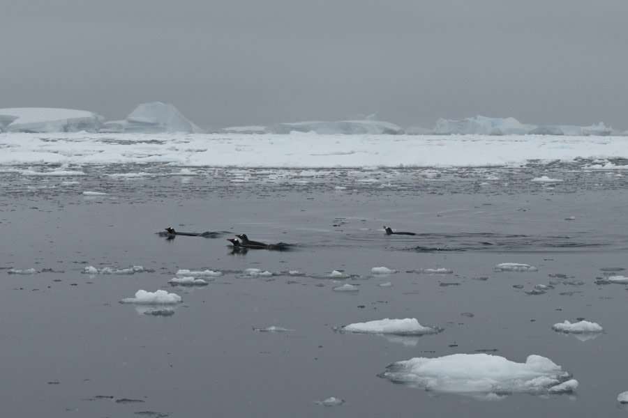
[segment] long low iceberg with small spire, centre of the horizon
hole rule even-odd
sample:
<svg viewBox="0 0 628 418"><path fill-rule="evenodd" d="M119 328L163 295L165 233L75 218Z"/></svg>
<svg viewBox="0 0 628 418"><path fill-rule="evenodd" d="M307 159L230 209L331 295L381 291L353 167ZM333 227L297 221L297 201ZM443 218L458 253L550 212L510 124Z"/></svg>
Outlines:
<svg viewBox="0 0 628 418"><path fill-rule="evenodd" d="M403 135L403 127L382 121L338 121L338 122L296 122L276 123L268 127L271 134L290 134L290 132L315 132L317 134L390 134Z"/></svg>

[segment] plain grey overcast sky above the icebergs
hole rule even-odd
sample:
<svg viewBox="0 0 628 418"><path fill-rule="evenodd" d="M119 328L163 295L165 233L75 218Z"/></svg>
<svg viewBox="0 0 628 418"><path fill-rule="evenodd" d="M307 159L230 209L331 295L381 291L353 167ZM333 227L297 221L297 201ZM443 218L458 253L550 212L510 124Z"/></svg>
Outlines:
<svg viewBox="0 0 628 418"><path fill-rule="evenodd" d="M628 129L627 0L9 0L0 108Z"/></svg>

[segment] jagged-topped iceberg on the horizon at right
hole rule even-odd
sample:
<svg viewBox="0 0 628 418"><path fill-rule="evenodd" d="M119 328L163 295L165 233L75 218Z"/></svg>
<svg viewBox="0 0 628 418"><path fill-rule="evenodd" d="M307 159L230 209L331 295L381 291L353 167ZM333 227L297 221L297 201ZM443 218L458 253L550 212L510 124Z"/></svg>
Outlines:
<svg viewBox="0 0 628 418"><path fill-rule="evenodd" d="M515 118L487 118L475 116L458 121L438 119L434 127L434 134L481 134L481 135L524 135L537 128L537 125L525 125Z"/></svg>

